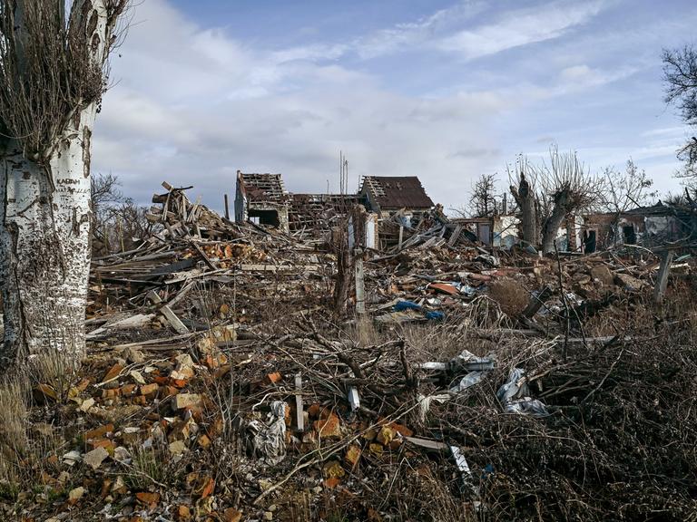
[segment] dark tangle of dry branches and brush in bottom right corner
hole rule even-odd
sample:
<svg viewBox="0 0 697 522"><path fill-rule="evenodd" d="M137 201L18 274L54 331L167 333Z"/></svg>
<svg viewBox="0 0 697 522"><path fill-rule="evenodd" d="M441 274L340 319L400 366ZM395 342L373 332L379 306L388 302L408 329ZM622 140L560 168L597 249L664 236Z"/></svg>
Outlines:
<svg viewBox="0 0 697 522"><path fill-rule="evenodd" d="M434 412L432 428L465 448L473 470L485 470L475 477L487 517L696 519L692 325L664 322L654 330L647 316L643 326L579 349L567 362L555 349L508 343L498 374ZM549 417L496 411L493 392L512 366L527 369Z"/></svg>

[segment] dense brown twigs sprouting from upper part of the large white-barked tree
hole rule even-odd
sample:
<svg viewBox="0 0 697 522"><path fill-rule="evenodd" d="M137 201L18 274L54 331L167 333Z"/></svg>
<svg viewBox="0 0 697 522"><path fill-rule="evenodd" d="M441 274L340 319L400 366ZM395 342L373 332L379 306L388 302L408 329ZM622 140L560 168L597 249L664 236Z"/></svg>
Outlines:
<svg viewBox="0 0 697 522"><path fill-rule="evenodd" d="M46 163L83 108L101 100L128 0L0 2L0 132Z"/></svg>

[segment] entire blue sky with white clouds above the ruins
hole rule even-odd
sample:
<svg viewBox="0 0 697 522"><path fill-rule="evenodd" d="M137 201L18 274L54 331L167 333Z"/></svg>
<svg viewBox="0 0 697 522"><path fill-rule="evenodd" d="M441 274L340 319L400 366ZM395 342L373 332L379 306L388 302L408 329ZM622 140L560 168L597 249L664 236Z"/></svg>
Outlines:
<svg viewBox="0 0 697 522"><path fill-rule="evenodd" d="M93 173L147 204L162 181L221 209L235 174L290 192L418 176L445 208L551 145L588 169L630 158L680 190L691 136L663 102L661 53L692 0L141 0L113 53Z"/></svg>

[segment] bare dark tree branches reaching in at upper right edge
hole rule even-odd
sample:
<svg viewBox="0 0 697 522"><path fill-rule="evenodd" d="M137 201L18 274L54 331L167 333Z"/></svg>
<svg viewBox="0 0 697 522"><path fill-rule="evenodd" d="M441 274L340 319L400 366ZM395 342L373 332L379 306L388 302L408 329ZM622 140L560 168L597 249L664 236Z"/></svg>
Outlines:
<svg viewBox="0 0 697 522"><path fill-rule="evenodd" d="M697 126L697 49L685 45L682 49L663 50L664 101L674 105L687 125ZM678 158L684 161L679 177L685 178L693 191L697 191L697 138L678 150Z"/></svg>

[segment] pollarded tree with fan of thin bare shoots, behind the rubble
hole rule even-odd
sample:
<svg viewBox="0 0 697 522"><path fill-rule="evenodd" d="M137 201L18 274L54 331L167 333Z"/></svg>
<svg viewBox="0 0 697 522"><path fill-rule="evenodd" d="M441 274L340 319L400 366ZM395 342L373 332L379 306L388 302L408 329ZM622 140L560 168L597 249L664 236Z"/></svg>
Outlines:
<svg viewBox="0 0 697 522"><path fill-rule="evenodd" d="M585 169L575 152L560 153L556 147L550 148L549 164L534 165L520 158L515 173L512 180L517 186L512 182L511 193L521 208L523 239L532 245L541 243L545 254L555 251L564 218L589 208L602 191L602 180Z"/></svg>

